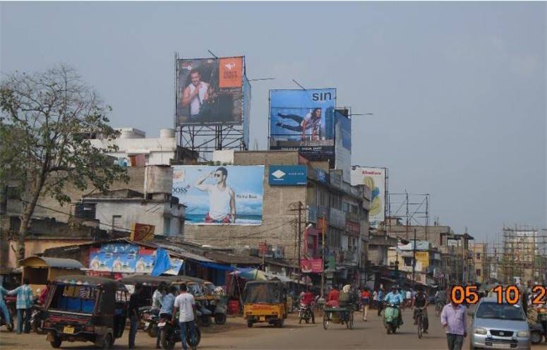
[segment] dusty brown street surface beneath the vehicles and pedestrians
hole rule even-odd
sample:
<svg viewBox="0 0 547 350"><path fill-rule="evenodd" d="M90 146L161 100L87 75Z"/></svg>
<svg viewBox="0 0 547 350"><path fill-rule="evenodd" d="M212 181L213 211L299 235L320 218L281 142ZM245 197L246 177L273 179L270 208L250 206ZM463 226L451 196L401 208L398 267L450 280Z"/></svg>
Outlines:
<svg viewBox="0 0 547 350"><path fill-rule="evenodd" d="M416 327L412 325L411 310L404 310L404 325L397 334L389 335L375 312L369 313L368 322L363 322L359 313L355 313L354 330L342 325L330 325L328 330L323 330L320 317L315 325L299 325L296 315L291 314L282 329L268 325L248 328L241 317L229 318L226 325L202 328L198 349L446 349L443 328L433 311L431 307L428 310L430 331L422 339L418 338ZM124 337L116 339L114 349L126 349L126 344L127 332L124 332ZM136 344L137 349L153 349L155 339L139 332ZM17 335L6 332L4 327L0 331L0 346L2 349L52 349L43 335ZM61 347L93 349L90 343L63 343ZM176 349L181 349L180 343ZM467 342L464 349L467 349Z"/></svg>

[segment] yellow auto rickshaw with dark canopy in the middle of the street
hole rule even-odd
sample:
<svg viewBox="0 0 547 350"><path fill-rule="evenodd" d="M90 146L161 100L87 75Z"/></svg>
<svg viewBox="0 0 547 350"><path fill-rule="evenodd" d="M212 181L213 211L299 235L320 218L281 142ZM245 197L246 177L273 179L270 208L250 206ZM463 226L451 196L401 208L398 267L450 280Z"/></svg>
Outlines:
<svg viewBox="0 0 547 350"><path fill-rule="evenodd" d="M244 316L247 327L268 322L283 327L287 318L287 289L280 281L247 282L244 290Z"/></svg>

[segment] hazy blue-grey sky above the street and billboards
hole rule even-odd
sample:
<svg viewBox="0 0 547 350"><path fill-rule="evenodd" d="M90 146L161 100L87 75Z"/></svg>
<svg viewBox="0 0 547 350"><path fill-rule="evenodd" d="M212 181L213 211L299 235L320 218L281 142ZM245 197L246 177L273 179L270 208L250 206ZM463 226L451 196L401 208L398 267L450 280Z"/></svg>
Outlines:
<svg viewBox="0 0 547 350"><path fill-rule="evenodd" d="M246 56L251 145L267 147L268 90L336 87L352 163L486 241L547 227L545 2L0 3L0 71L73 66L113 126L172 127L174 52Z"/></svg>

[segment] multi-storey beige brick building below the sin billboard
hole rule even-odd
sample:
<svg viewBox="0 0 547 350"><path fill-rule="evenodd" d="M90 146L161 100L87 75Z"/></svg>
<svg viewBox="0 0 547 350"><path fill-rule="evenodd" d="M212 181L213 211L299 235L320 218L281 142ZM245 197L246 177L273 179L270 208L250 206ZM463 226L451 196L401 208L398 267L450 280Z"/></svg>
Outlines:
<svg viewBox="0 0 547 350"><path fill-rule="evenodd" d="M342 173L330 171L328 162L309 162L299 152L233 152L222 162L234 165L264 165L263 216L259 226L187 225L185 237L193 243L236 249L282 252L286 260L298 265L301 259L332 262L327 282L364 282L368 243L368 207L371 191L366 186L350 186ZM306 169L300 186L270 185L270 167L289 165ZM311 274L318 282L320 276Z"/></svg>

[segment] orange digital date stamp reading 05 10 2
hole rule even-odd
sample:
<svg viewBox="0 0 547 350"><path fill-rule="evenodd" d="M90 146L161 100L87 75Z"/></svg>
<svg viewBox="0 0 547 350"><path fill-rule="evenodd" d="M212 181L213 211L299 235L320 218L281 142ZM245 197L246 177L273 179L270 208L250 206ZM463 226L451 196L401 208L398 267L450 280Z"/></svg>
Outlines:
<svg viewBox="0 0 547 350"><path fill-rule="evenodd" d="M492 290L499 304L516 304L521 298L521 292L518 286L495 286ZM532 304L543 305L547 301L547 287L536 285L532 287ZM504 298L505 297L505 298ZM450 291L450 298L457 304L474 304L479 301L479 292L477 286L454 286ZM505 299L505 301L504 301Z"/></svg>

